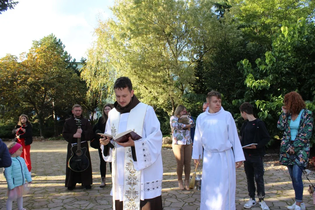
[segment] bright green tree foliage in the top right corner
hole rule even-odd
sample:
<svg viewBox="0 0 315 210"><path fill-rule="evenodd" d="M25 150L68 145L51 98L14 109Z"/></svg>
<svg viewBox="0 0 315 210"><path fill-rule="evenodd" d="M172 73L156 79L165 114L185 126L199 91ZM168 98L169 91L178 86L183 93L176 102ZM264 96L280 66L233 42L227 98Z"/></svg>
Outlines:
<svg viewBox="0 0 315 210"><path fill-rule="evenodd" d="M272 36L278 32L283 21L294 24L306 17L314 21L315 2L312 0L234 0L232 13L246 39L272 48Z"/></svg>

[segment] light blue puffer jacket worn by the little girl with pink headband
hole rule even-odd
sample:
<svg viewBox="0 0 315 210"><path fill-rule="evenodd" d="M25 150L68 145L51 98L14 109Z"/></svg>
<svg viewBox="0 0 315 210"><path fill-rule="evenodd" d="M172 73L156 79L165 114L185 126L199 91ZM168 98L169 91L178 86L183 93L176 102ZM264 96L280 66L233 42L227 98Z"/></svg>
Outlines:
<svg viewBox="0 0 315 210"><path fill-rule="evenodd" d="M4 176L7 180L9 190L25 184L25 179L27 182L32 181L24 159L21 157L11 157L11 159L12 165L4 168Z"/></svg>

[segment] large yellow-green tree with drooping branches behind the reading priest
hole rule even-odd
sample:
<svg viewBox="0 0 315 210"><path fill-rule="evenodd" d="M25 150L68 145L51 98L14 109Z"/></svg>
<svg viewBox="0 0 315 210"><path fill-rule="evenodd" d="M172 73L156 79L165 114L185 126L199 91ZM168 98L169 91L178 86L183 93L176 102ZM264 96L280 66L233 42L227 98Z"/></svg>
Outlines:
<svg viewBox="0 0 315 210"><path fill-rule="evenodd" d="M128 76L143 102L173 113L191 89L195 63L215 42L207 34L217 20L211 7L209 1L117 1L115 18L95 30L83 78L105 89Z"/></svg>

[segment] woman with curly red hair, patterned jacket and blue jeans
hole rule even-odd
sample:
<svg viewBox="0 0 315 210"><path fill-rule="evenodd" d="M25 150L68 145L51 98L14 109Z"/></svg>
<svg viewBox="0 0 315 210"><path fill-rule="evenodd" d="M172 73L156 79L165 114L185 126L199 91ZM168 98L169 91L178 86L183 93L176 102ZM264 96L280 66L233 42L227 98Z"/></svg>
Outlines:
<svg viewBox="0 0 315 210"><path fill-rule="evenodd" d="M295 191L295 203L287 208L305 209L302 170L305 169L309 158L313 129L312 111L306 109L304 100L296 92L284 95L282 111L277 125L280 130L284 130L279 161L288 167Z"/></svg>

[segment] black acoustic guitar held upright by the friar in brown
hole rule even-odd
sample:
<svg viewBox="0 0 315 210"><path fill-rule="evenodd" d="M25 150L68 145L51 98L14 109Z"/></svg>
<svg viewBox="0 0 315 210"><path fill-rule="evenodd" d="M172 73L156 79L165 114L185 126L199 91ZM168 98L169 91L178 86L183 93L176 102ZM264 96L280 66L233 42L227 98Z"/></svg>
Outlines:
<svg viewBox="0 0 315 210"><path fill-rule="evenodd" d="M81 128L81 120L75 118L78 129ZM71 148L72 156L68 161L68 167L75 172L81 172L86 170L90 161L89 158L85 155L87 148L81 148L81 138L78 138L77 145L73 145Z"/></svg>

